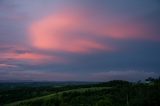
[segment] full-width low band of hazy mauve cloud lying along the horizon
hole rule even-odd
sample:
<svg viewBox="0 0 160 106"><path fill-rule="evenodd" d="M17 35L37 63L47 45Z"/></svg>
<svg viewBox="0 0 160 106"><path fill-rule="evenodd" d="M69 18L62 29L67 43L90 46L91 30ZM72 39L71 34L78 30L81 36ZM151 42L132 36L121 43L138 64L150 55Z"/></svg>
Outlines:
<svg viewBox="0 0 160 106"><path fill-rule="evenodd" d="M46 72L36 70L0 70L0 80L33 80L33 81L139 81L148 77L158 77L158 73L145 71L108 71L88 74L68 72Z"/></svg>

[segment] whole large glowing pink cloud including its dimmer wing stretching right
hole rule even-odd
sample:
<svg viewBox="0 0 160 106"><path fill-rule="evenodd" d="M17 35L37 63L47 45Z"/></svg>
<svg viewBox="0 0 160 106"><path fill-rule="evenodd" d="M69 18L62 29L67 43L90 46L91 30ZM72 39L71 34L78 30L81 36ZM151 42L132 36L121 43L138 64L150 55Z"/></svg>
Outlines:
<svg viewBox="0 0 160 106"><path fill-rule="evenodd" d="M31 24L31 44L53 51L90 52L93 49L113 50L112 46L93 40L95 36L119 40L155 39L149 35L149 28L142 24L117 18L99 18L91 17L84 11L63 11L49 15Z"/></svg>

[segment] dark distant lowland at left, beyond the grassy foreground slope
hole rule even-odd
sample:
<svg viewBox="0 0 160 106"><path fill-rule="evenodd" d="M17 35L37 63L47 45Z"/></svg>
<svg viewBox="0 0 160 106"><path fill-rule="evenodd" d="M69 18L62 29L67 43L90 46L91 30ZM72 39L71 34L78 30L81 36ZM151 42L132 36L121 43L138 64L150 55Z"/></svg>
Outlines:
<svg viewBox="0 0 160 106"><path fill-rule="evenodd" d="M0 106L60 91L82 88L94 82L0 82Z"/></svg>

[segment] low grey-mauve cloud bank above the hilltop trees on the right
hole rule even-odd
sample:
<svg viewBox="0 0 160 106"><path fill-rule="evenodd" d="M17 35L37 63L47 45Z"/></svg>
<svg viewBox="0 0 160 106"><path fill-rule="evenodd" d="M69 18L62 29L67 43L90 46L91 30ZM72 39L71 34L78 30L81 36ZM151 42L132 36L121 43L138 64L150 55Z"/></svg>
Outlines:
<svg viewBox="0 0 160 106"><path fill-rule="evenodd" d="M144 80L148 77L158 77L156 72L146 72L146 71L108 71L108 72L97 72L91 74L91 79L99 81L108 80L129 80L138 81Z"/></svg>

